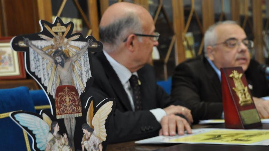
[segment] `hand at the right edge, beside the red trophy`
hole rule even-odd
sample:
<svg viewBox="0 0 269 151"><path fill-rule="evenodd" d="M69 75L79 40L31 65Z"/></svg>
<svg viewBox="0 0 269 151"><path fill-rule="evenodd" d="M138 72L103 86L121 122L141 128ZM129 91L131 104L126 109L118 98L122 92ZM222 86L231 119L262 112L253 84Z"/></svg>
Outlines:
<svg viewBox="0 0 269 151"><path fill-rule="evenodd" d="M260 118L269 118L269 101L253 97L256 109L260 115Z"/></svg>

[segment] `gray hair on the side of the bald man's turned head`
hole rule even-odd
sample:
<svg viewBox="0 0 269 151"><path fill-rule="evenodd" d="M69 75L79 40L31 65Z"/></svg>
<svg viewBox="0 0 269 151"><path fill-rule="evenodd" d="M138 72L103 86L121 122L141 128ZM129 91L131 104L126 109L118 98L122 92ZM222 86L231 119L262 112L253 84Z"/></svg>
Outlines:
<svg viewBox="0 0 269 151"><path fill-rule="evenodd" d="M106 52L116 51L120 43L132 33L143 33L142 23L134 14L127 14L105 27L99 27L100 41ZM139 38L140 42L141 40Z"/></svg>

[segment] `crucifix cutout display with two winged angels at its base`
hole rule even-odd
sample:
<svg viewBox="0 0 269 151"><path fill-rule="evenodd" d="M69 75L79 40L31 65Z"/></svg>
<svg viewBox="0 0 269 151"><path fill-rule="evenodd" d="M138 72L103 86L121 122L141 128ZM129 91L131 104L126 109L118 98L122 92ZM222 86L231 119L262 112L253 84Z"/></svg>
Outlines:
<svg viewBox="0 0 269 151"><path fill-rule="evenodd" d="M53 24L39 23L41 32L16 36L11 47L24 52L25 69L46 93L51 113L17 111L10 117L32 137L35 150L105 149L114 99L105 99L98 107L93 97L86 106L81 102L94 78L91 52L101 51L102 43L72 34L74 24L59 17Z"/></svg>

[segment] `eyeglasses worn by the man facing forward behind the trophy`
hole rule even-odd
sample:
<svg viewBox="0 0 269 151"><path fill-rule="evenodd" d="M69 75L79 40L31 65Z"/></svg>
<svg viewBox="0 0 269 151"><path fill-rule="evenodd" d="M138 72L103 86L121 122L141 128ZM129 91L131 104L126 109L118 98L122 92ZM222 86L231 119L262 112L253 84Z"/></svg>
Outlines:
<svg viewBox="0 0 269 151"><path fill-rule="evenodd" d="M253 48L254 42L253 42L252 40L244 39L244 40L242 40L242 41L239 41L238 39L235 39L235 38L227 39L227 40L225 40L224 42L221 42L221 43L218 43L218 44L215 44L215 45L212 45L212 46L216 46L216 45L224 44L224 45L226 45L226 46L229 47L229 48L235 48L236 46L239 46L239 45L241 44L241 42L242 42L246 47L248 47L249 49L250 49L250 48Z"/></svg>

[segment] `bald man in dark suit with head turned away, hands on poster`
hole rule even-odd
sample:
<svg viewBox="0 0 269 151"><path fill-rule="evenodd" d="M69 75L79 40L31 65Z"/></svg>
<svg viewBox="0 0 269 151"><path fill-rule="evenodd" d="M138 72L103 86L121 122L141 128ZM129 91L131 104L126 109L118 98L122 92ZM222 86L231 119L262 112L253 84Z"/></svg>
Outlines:
<svg viewBox="0 0 269 151"><path fill-rule="evenodd" d="M93 57L94 83L84 100L116 99L108 141L191 133L190 110L156 84L148 64L159 38L149 12L132 3L113 4L102 16L99 33L104 50Z"/></svg>

